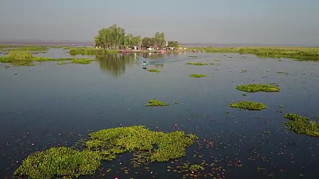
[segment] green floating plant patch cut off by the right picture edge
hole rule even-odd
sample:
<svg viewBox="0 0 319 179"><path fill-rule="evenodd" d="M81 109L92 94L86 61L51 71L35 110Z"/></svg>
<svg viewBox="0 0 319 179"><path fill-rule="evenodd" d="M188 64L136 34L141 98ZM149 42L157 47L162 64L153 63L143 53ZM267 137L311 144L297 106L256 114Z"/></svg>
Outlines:
<svg viewBox="0 0 319 179"><path fill-rule="evenodd" d="M294 113L287 113L283 117L290 120L284 122L288 129L293 130L297 134L319 137L319 123L315 121L308 122L309 118Z"/></svg>

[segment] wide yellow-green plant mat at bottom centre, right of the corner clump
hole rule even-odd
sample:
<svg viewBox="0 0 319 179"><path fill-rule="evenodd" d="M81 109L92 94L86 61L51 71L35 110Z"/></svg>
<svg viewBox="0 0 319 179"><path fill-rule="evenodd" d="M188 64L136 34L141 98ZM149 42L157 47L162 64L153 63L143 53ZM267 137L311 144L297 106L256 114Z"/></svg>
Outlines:
<svg viewBox="0 0 319 179"><path fill-rule="evenodd" d="M128 151L152 151L151 162L166 162L185 156L185 148L197 137L183 131L155 132L145 126L103 129L89 134L90 150L102 151L103 159L113 160L118 154ZM157 146L157 149L154 149Z"/></svg>

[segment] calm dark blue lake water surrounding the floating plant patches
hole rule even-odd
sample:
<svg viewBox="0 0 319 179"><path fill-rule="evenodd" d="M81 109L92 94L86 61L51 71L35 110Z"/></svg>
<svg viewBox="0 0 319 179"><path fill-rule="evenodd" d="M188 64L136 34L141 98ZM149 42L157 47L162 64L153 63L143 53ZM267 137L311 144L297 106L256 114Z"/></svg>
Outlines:
<svg viewBox="0 0 319 179"><path fill-rule="evenodd" d="M50 49L33 56L68 58L67 51ZM151 58L148 69L161 72L142 69L142 56ZM183 130L199 139L179 160L133 168L132 154L125 153L103 162L96 175L80 179L196 178L173 170L180 162L203 160L208 165L197 178L209 174L217 179L319 178L319 138L287 130L283 122L288 119L282 117L288 112L319 115L317 62L233 53L76 57L96 61L88 65L35 62L36 66L7 69L0 64L0 178L12 178L15 168L33 152L75 143L83 148L77 142L88 139L92 131L131 125L164 132ZM215 65L186 65L188 62ZM207 77L191 78L190 74ZM275 83L281 91L246 93L236 89L252 83ZM170 105L146 107L153 98ZM268 108L228 107L238 100L261 102ZM111 172L106 172L108 169Z"/></svg>

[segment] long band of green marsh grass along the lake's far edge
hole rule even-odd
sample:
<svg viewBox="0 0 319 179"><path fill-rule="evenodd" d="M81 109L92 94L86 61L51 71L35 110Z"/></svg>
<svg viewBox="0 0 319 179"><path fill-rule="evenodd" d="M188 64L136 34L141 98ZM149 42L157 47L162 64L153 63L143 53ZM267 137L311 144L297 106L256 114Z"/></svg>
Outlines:
<svg viewBox="0 0 319 179"><path fill-rule="evenodd" d="M20 48L23 51L39 51L48 50L48 48L63 48L69 49L71 55L96 55L106 53L118 53L118 50L96 49L94 47L70 47L70 46L46 46L46 45L0 45L2 51L12 51L13 49L7 48ZM300 61L312 60L319 61L319 48L318 47L187 47L186 50L174 52L192 52L193 50L201 52L213 53L239 53L239 54L254 54L260 58L292 58ZM128 50L130 53L154 53L155 51L141 50L133 51ZM125 51L123 51L125 53ZM170 51L167 51L170 52ZM173 51L171 51L173 52Z"/></svg>

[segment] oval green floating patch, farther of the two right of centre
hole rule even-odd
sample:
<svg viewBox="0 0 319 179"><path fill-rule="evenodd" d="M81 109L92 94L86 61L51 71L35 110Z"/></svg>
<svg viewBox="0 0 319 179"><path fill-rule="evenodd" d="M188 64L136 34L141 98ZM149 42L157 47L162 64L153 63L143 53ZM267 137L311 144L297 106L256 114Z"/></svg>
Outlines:
<svg viewBox="0 0 319 179"><path fill-rule="evenodd" d="M245 91L245 92L258 92L258 91L279 92L280 91L280 89L276 86L260 85L260 84L240 85L240 86L237 86L236 89Z"/></svg>

